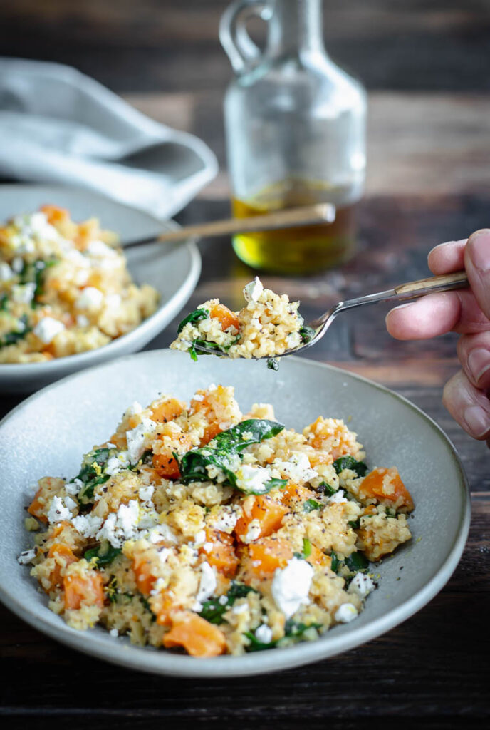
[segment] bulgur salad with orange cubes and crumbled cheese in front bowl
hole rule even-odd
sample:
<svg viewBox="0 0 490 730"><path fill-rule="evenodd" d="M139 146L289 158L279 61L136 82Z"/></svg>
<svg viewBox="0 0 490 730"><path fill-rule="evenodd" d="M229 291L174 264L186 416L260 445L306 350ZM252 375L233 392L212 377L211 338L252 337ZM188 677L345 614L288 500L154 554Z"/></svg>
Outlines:
<svg viewBox="0 0 490 730"><path fill-rule="evenodd" d="M296 432L231 387L134 403L77 477L39 480L18 559L77 629L203 657L316 639L411 539L397 469L364 457L342 420Z"/></svg>

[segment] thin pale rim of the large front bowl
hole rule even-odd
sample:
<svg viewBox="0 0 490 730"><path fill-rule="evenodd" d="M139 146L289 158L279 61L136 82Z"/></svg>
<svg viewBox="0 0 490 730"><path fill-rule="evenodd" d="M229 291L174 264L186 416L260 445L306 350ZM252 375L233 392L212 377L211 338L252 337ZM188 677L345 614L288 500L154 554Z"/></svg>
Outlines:
<svg viewBox="0 0 490 730"><path fill-rule="evenodd" d="M170 350L167 348L133 353L131 355L117 358L116 361L113 360L101 363L98 366L91 368L90 372L93 372L93 370L96 369L104 369L114 366L114 364L128 359L141 357L156 359L161 357L162 353L168 352L170 352ZM33 626L34 629L42 631L42 633L47 634L47 636L52 639L55 639L70 648L82 651L82 653L88 654L89 656L95 656L96 658L109 661L112 664L130 667L131 669L136 669L141 672L195 678L244 677L249 675L260 675L267 672L277 672L283 669L289 669L295 666L310 664L314 661L330 658L351 648L362 645L365 642L370 641L370 639L375 639L376 637L381 636L381 634L386 633L386 631L389 631L394 628L394 626L402 623L402 621L410 618L411 615L424 607L437 595L443 586L446 585L454 572L454 569L456 569L459 559L462 556L470 529L470 486L462 466L462 461L459 458L451 439L449 439L435 420L421 410L421 408L406 399L405 396L401 396L399 393L392 391L390 388L386 388L384 385L376 383L375 381L357 373L349 372L348 370L344 370L328 363L321 363L307 358L300 358L298 356L288 356L288 358L291 358L292 361L300 362L317 369L341 372L345 377L351 377L354 380L361 381L382 393L386 393L392 399L401 401L405 404L405 406L416 412L419 417L426 420L427 424L436 432L437 436L440 437L446 445L448 455L451 457L451 460L454 462L454 466L456 467L456 474L458 476L462 496L462 510L459 515L459 524L456 530L454 543L451 550L448 551L443 564L435 570L427 583L413 596L411 596L411 598L405 600L402 604L400 604L400 606L394 607L392 610L389 610L380 617L369 621L369 623L365 626L351 627L349 631L338 634L338 636L333 636L330 631L327 631L326 634L313 642L303 642L292 647L281 648L279 650L263 650L260 654L248 653L244 656L225 655L214 658L195 658L187 655L182 656L179 654L167 653L165 650L161 650L159 648L137 647L128 645L126 642L123 643L122 641L117 643L114 642L113 637L110 637L104 629L101 629L101 627L96 628L93 633L89 633L88 631L83 632L71 629L64 622L54 626L50 623L53 618L58 619L58 621L61 622L63 620L54 614L51 617L51 612L47 606L36 603L36 610L31 610L31 608L21 602L21 599L12 596L7 587L4 585L0 585L1 602L10 610L15 612L16 615L22 618L23 621L26 621L26 623ZM0 429L10 418L28 407L30 401L36 399L40 395L44 395L44 393L50 389L56 388L65 380L82 376L84 372L86 373L88 371L80 371L69 374L61 380L57 380L55 383L46 385L41 390L23 400L0 420ZM44 612L48 612L47 618L44 618ZM48 618L50 621L48 621Z"/></svg>

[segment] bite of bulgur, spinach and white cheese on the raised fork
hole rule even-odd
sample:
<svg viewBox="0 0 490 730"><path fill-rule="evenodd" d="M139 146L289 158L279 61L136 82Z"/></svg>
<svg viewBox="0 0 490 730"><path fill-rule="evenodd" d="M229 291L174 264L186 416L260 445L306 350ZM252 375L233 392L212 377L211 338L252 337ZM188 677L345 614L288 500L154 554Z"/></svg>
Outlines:
<svg viewBox="0 0 490 730"><path fill-rule="evenodd" d="M202 347L230 358L273 358L301 345L306 328L298 314L299 301L264 289L260 279L244 288L246 304L232 312L209 299L187 315L170 347L196 359Z"/></svg>

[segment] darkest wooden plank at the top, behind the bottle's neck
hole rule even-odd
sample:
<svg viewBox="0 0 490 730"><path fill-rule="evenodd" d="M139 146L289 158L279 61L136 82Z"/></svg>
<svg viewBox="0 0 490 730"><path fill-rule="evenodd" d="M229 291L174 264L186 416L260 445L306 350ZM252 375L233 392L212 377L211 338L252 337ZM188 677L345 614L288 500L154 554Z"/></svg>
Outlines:
<svg viewBox="0 0 490 730"><path fill-rule="evenodd" d="M2 0L0 53L77 66L115 91L225 88L228 0ZM489 91L487 0L324 0L327 47L370 89ZM263 28L255 28L263 38Z"/></svg>

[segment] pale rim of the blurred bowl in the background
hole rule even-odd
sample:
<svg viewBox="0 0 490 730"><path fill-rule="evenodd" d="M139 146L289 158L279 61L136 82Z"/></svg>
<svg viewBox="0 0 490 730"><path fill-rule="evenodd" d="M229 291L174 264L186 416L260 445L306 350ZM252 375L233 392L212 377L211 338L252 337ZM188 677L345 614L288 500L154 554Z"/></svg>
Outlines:
<svg viewBox="0 0 490 730"><path fill-rule="evenodd" d="M9 188L12 191L15 191L19 188L39 188L39 190L42 190L43 188L47 187L58 188L60 191L69 190L73 191L74 193L90 193L94 197L101 198L103 200L109 201L111 204L117 205L117 207L124 208L125 210L131 212L136 212L139 215L144 215L145 217L151 219L155 223L155 226L159 226L160 228L162 228L162 230L176 230L178 228L181 228L179 223L176 223L176 221L172 220L171 218L167 220L160 220L159 218L156 218L155 216L151 215L151 213L148 213L144 210L140 210L139 208L135 208L125 203L120 203L119 201L109 198L109 196L105 196L103 193L96 193L95 191L88 190L87 188L81 188L77 185L51 185L50 183L5 183L0 185L0 194L1 191L5 188ZM158 242L155 238L155 241L150 241L146 244L141 245L141 250L148 250L149 247L156 247L157 245ZM118 354L125 351L125 347L128 345L128 343L136 337L147 337L147 335L151 337L152 334L150 333L153 333L154 331L156 334L158 332L160 319L164 319L166 317L168 310L184 306L185 302L188 301L190 295L193 293L195 285L198 283L198 279L201 274L201 254L199 253L198 247L195 244L195 240L192 238L187 238L182 244L179 244L177 247L184 250L190 258L190 266L184 283L179 288L179 290L170 297L170 299L166 299L165 301L161 301L160 299L155 312L149 315L149 317L142 320L139 325L131 329L129 332L122 334L120 337L112 339L111 342L108 342L106 345L102 345L102 347L96 347L95 350L86 350L83 353L67 355L63 358L53 358L52 360L48 360L47 362L0 363L0 382L3 379L23 380L24 378L29 379L30 377L49 377L57 369L65 369L64 366L69 367L69 369L71 370L78 370L78 368L83 369L85 367L88 367L92 362L97 363L98 360L101 358L103 358L104 361L116 358ZM176 246L172 247L171 250L176 250ZM165 253L164 248L162 249L162 253Z"/></svg>

